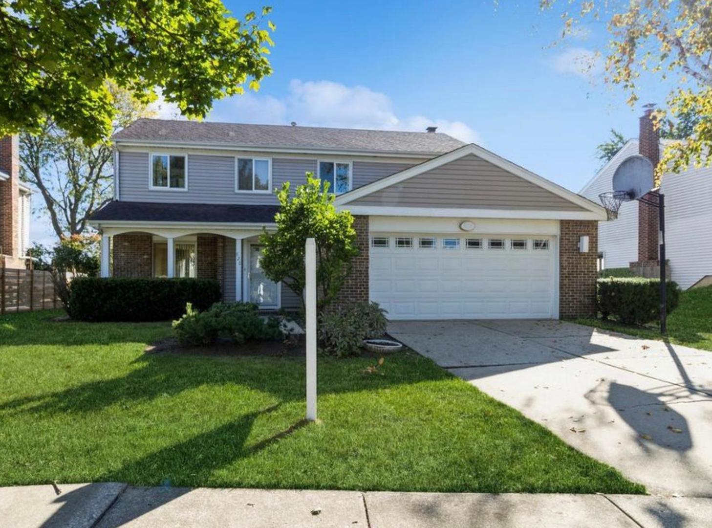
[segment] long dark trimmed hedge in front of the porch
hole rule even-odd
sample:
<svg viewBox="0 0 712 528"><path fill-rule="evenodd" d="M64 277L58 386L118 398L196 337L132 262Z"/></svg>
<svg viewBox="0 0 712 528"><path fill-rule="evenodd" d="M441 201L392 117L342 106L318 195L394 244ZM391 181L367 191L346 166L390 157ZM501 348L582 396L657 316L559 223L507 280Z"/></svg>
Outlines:
<svg viewBox="0 0 712 528"><path fill-rule="evenodd" d="M80 321L170 321L191 303L206 310L220 301L218 281L205 279L100 279L69 285L68 314Z"/></svg>

